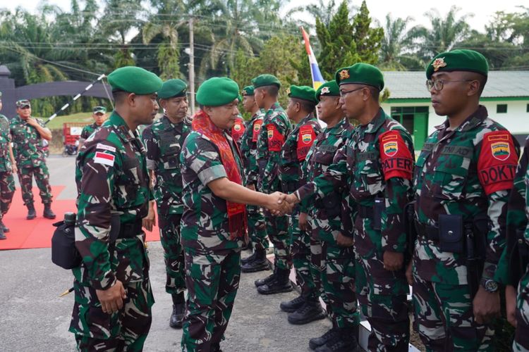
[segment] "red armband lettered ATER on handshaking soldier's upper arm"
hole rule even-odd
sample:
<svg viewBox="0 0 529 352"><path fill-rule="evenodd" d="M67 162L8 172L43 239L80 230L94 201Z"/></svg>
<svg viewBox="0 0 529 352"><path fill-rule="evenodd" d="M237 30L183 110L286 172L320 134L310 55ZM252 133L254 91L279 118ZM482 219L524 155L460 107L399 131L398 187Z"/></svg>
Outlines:
<svg viewBox="0 0 529 352"><path fill-rule="evenodd" d="M411 180L414 161L399 131L391 130L380 134L379 152L384 180L392 177Z"/></svg>

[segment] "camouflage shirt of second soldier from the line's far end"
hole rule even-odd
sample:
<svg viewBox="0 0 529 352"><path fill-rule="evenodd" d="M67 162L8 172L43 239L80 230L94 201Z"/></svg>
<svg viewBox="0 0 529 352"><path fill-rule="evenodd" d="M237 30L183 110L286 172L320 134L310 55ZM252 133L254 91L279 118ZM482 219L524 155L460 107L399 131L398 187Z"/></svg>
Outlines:
<svg viewBox="0 0 529 352"><path fill-rule="evenodd" d="M265 193L279 191L278 166L281 158L281 147L292 126L285 111L279 103L270 106L257 137L257 170L259 189ZM250 171L251 172L251 171ZM257 173L255 173L257 175Z"/></svg>

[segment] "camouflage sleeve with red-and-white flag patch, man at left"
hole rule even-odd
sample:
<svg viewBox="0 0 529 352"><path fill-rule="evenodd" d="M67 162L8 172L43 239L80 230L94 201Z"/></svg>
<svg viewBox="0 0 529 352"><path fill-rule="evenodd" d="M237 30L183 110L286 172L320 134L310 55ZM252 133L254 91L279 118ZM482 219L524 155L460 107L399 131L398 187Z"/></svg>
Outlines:
<svg viewBox="0 0 529 352"><path fill-rule="evenodd" d="M99 151L96 144L103 144L107 148ZM85 148L75 247L83 258L90 285L94 289L104 290L116 283L110 267L109 234L114 208L112 193L115 170L121 166L121 161L116 156L116 146L108 141L90 142Z"/></svg>

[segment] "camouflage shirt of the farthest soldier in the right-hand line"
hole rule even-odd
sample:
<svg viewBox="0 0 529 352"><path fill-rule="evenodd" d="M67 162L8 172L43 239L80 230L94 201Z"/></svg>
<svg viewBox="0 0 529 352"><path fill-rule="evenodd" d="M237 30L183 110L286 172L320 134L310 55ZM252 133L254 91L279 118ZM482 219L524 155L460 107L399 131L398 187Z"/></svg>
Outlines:
<svg viewBox="0 0 529 352"><path fill-rule="evenodd" d="M257 137L261 131L264 116L265 113L261 110L253 114L250 121L248 121L248 128L246 128L243 137L241 137L241 155L243 156L245 170L244 184L257 184L257 174L250 172L250 170L257 168Z"/></svg>

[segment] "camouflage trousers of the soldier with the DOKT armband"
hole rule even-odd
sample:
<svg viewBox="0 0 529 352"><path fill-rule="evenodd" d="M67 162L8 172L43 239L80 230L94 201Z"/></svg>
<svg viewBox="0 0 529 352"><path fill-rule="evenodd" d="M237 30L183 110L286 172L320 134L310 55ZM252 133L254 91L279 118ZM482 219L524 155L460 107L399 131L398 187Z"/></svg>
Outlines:
<svg viewBox="0 0 529 352"><path fill-rule="evenodd" d="M415 329L427 351L494 351L494 326L474 322L468 285L413 275L413 306Z"/></svg>

